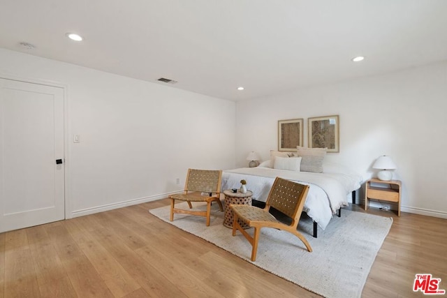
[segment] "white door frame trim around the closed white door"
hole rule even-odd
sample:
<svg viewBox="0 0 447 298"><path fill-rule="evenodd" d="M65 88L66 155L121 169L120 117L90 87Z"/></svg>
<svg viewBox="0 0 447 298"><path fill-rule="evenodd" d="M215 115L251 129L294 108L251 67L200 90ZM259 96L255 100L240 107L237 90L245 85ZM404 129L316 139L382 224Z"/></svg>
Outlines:
<svg viewBox="0 0 447 298"><path fill-rule="evenodd" d="M69 142L69 121L68 121L68 84L61 82L54 82L50 80L34 79L30 77L20 77L17 75L11 75L0 72L0 78L5 80L13 80L30 84L39 84L50 87L57 87L62 89L62 94L64 96L64 218L72 218L71 216L71 198L70 198L70 153L71 147L68 146Z"/></svg>

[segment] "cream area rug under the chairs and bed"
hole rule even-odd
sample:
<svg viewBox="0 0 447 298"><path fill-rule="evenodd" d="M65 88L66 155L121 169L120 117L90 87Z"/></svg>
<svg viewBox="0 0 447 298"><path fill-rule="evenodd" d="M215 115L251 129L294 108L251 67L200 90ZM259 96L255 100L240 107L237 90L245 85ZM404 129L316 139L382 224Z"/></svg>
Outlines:
<svg viewBox="0 0 447 298"><path fill-rule="evenodd" d="M187 208L184 202L177 206ZM194 209L205 206L195 205ZM170 222L169 209L166 206L149 212L251 262L249 242L240 232L233 237L231 229L222 225L223 212L217 204L212 206L209 227L205 218L186 214L175 214ZM263 228L256 261L251 263L323 297L360 297L392 223L393 218L342 210L342 217L334 216L325 230L318 229L318 238L314 238L312 219L303 214L298 230L309 241L312 253L292 234ZM252 230L247 231L252 234Z"/></svg>

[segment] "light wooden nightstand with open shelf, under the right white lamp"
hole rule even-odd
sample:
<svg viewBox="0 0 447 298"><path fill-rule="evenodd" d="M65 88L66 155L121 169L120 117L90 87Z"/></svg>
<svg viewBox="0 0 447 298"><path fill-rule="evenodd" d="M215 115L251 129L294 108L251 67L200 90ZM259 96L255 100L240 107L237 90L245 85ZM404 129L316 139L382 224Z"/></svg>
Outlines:
<svg viewBox="0 0 447 298"><path fill-rule="evenodd" d="M373 184L373 186L371 185ZM374 186L374 184L388 184L390 188ZM365 210L368 209L368 198L388 202L397 202L397 216L400 216L400 195L402 193L402 181L382 181L376 178L366 181Z"/></svg>

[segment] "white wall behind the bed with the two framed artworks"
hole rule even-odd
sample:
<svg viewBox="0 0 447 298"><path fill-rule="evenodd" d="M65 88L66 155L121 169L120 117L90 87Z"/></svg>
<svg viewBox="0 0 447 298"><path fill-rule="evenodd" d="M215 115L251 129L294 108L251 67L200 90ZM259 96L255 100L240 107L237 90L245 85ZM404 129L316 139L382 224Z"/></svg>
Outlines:
<svg viewBox="0 0 447 298"><path fill-rule="evenodd" d="M447 218L447 62L400 73L310 87L236 105L236 163L249 151L263 160L277 149L277 121L340 116L340 153L328 161L348 165L365 179L372 163L389 155L403 184L402 211ZM362 198L362 192L361 192Z"/></svg>

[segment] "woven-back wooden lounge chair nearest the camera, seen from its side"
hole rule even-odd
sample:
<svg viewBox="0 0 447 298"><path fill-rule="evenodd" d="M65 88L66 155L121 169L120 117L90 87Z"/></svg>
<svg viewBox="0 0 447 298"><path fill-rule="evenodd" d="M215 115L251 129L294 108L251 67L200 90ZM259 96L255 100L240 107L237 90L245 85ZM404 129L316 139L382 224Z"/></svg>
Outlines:
<svg viewBox="0 0 447 298"><path fill-rule="evenodd" d="M230 208L234 212L233 236L235 236L236 230L240 230L244 237L247 238L252 246L252 261L256 260L256 252L258 251L258 241L261 228L274 228L291 232L305 244L307 251L312 252L309 242L307 242L305 237L296 230L308 191L309 186L307 185L298 184L296 182L277 177L274 179L274 183L268 195L267 202L265 202L264 209L249 205L230 205ZM285 223L277 221L277 219L269 213L270 207L273 207L274 209L277 209L281 213L290 217L292 219L291 224L286 225ZM253 237L251 237L251 235L240 226L237 222L238 218L242 219L244 223L247 223L249 227L254 228Z"/></svg>

